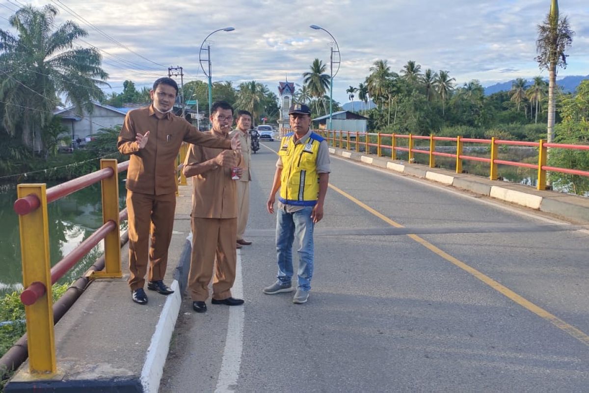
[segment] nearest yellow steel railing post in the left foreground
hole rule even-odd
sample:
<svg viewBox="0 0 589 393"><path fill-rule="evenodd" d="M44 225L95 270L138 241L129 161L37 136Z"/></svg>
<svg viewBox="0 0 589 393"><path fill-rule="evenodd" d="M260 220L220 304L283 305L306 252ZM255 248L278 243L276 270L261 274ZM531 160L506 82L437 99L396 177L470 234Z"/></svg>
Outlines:
<svg viewBox="0 0 589 393"><path fill-rule="evenodd" d="M21 237L22 284L28 288L39 282L45 293L30 306L25 305L29 372L55 374L55 335L53 329L53 298L51 291L51 260L49 259L49 225L47 218L47 186L45 184L18 184L17 194L24 198L37 196L38 209L19 214Z"/></svg>

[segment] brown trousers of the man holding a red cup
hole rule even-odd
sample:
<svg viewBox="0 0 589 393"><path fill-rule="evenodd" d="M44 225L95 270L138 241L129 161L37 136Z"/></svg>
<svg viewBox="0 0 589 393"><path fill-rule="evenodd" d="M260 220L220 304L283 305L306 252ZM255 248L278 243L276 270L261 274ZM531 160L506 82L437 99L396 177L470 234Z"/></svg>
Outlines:
<svg viewBox="0 0 589 393"><path fill-rule="evenodd" d="M237 219L207 219L192 217L192 255L188 288L193 302L209 298L209 283L213 276L213 299L231 297L237 263Z"/></svg>

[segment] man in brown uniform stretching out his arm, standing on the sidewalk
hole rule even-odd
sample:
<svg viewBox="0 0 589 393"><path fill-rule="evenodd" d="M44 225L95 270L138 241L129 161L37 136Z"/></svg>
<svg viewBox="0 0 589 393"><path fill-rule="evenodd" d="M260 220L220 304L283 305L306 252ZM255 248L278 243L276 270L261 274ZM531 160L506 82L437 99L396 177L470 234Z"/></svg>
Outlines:
<svg viewBox="0 0 589 393"><path fill-rule="evenodd" d="M118 150L131 155L126 186L129 286L131 298L139 304L147 303L143 286L148 252L150 272L147 288L163 295L173 293L164 284L163 278L174 226L176 157L181 143L186 141L234 150L240 147L237 138L228 140L201 133L186 120L171 113L177 94L176 81L171 78L156 80L150 91L153 104L130 111L118 136Z"/></svg>

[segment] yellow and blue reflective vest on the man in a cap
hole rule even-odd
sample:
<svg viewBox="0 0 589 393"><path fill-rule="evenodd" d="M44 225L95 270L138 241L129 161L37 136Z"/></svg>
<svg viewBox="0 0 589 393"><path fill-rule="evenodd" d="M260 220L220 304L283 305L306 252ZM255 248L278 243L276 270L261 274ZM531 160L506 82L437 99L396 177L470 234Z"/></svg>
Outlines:
<svg viewBox="0 0 589 393"><path fill-rule="evenodd" d="M306 141L294 144L293 135L286 134L280 142L282 174L278 200L294 206L315 206L319 196L317 152L323 137L311 133Z"/></svg>

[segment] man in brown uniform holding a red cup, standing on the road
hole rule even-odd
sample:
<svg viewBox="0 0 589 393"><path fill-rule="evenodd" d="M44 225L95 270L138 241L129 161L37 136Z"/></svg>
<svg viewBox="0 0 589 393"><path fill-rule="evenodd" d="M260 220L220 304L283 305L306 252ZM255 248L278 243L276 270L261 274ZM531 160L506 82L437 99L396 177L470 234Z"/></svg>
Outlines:
<svg viewBox="0 0 589 393"><path fill-rule="evenodd" d="M233 123L233 108L224 101L211 107L211 136L229 141ZM209 282L213 276L213 304L237 306L242 299L231 297L235 280L237 190L231 179L231 169L237 167L241 155L236 151L223 151L191 145L184 161L183 173L193 176L192 255L188 288L196 312L206 312L204 303L209 298ZM236 169L241 175L241 169Z"/></svg>

